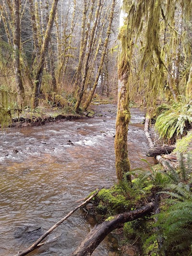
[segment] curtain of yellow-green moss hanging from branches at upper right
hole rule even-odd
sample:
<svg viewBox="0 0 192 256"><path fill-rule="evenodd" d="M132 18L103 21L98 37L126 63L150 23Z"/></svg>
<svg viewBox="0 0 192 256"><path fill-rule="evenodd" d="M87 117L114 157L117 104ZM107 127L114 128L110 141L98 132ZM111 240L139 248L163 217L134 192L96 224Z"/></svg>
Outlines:
<svg viewBox="0 0 192 256"><path fill-rule="evenodd" d="M119 77L123 73L133 76L130 83L131 96L144 97L144 103L150 112L155 110L159 95L175 100L179 96L179 88L170 74L173 54L177 52L180 44L178 31L175 29L177 8L181 8L186 20L190 20L192 1L123 1L127 18L119 35L122 46ZM135 56L139 56L138 66L134 61ZM190 52L188 56L191 56Z"/></svg>

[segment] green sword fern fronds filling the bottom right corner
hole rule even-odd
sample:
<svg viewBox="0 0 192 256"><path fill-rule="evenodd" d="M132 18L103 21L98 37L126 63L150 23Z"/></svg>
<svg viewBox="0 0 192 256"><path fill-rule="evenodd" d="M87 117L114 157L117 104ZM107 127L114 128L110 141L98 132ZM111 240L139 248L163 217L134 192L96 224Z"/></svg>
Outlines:
<svg viewBox="0 0 192 256"><path fill-rule="evenodd" d="M162 252L171 252L168 255L189 255L192 253L192 156L188 154L184 158L180 154L178 159L178 170L169 168L167 172L160 171L167 183L164 183L164 191L158 194L164 194L167 198L163 197L163 210L155 215L157 222L154 227L158 227L159 234L154 232L145 243L153 242L160 235L164 238Z"/></svg>

